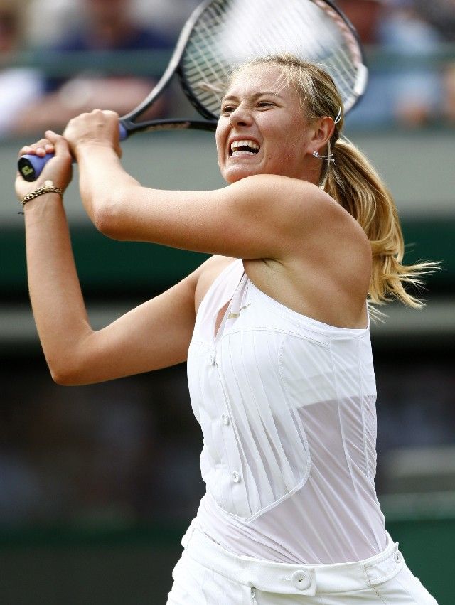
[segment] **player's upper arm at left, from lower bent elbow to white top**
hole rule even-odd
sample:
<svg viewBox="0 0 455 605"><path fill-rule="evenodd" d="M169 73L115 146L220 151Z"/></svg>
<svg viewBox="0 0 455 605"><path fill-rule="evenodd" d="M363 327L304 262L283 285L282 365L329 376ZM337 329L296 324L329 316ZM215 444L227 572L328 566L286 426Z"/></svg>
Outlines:
<svg viewBox="0 0 455 605"><path fill-rule="evenodd" d="M54 380L82 385L122 378L186 360L196 312L194 294L200 268L113 323L87 331ZM52 370L52 368L51 368Z"/></svg>

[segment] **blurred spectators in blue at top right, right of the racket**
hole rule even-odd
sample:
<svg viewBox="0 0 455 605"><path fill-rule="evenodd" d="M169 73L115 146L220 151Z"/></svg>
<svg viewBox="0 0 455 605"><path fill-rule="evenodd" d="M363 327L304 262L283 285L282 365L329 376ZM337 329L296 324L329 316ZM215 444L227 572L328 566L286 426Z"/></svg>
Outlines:
<svg viewBox="0 0 455 605"><path fill-rule="evenodd" d="M338 0L370 59L365 97L348 125L418 127L455 119L454 0ZM429 7L431 10L429 11ZM444 12L445 18L441 15Z"/></svg>

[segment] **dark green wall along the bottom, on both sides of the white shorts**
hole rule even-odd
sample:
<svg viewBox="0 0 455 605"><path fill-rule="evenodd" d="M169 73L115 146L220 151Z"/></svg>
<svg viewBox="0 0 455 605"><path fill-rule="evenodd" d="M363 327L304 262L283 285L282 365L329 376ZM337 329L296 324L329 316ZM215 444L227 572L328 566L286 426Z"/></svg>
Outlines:
<svg viewBox="0 0 455 605"><path fill-rule="evenodd" d="M387 529L439 605L453 605L455 518L396 520ZM164 605L184 530L0 532L0 603Z"/></svg>

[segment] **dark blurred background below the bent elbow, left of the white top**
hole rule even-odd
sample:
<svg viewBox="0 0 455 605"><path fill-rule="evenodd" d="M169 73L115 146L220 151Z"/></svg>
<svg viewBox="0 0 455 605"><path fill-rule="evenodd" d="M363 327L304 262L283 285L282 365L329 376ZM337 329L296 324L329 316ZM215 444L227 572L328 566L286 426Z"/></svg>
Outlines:
<svg viewBox="0 0 455 605"><path fill-rule="evenodd" d="M0 367L0 533L191 518L201 437L184 368L68 389L42 365L26 381L14 363Z"/></svg>

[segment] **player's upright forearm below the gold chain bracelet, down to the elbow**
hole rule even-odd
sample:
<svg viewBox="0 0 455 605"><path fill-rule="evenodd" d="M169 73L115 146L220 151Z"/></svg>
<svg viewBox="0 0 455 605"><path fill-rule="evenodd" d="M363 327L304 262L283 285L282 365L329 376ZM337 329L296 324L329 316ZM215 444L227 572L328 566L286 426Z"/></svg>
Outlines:
<svg viewBox="0 0 455 605"><path fill-rule="evenodd" d="M65 382L78 351L92 333L71 249L63 203L47 193L26 203L28 288L38 335L50 372Z"/></svg>

